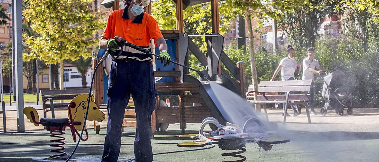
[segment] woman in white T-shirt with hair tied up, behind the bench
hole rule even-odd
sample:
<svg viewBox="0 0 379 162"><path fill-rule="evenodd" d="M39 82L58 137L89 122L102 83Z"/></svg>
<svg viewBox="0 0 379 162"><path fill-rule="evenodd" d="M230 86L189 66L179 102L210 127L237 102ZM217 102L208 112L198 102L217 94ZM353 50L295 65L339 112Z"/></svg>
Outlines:
<svg viewBox="0 0 379 162"><path fill-rule="evenodd" d="M288 81L288 80L294 80L295 79L295 71L297 68L301 68L301 64L298 63L294 58L295 56L295 50L292 48L291 45L287 46L287 57L283 58L277 69L275 70L275 73L273 75L273 78L271 78L270 81L274 81L276 78L276 75L278 75L279 71L282 70L282 81ZM293 110L293 116L298 116L300 113L295 109L295 106L291 104L291 109ZM283 104L283 116L285 111L285 105ZM290 116L288 113L285 115Z"/></svg>

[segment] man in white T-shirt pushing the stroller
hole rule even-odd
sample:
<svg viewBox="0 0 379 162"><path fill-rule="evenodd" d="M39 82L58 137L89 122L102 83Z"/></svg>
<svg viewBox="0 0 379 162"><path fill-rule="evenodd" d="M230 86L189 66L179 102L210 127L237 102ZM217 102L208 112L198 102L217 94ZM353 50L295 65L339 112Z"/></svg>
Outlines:
<svg viewBox="0 0 379 162"><path fill-rule="evenodd" d="M313 74L320 74L321 72L325 71L320 64L318 64L318 61L316 59L313 59L313 56L315 56L315 50L313 48L307 49L308 57L303 60L303 76L302 80L313 80ZM317 68L318 70L315 70ZM317 115L315 112L315 105L313 104L313 87L309 91L310 93L310 114L311 115Z"/></svg>

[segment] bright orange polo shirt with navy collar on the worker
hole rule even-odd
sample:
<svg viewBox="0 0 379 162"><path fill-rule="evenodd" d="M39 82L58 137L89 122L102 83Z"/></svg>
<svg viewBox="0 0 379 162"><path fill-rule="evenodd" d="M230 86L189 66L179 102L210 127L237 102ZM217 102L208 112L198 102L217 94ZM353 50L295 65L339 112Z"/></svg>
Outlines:
<svg viewBox="0 0 379 162"><path fill-rule="evenodd" d="M127 9L115 10L111 12L108 18L102 37L110 39L115 36L122 37L126 41L143 48L149 48L150 39L154 39L156 42L158 38L163 37L157 21L151 15L143 12L132 21L129 19ZM152 58L152 56L145 56L130 47L124 46L122 50L122 55L128 58L137 60L147 60L148 56L150 59Z"/></svg>

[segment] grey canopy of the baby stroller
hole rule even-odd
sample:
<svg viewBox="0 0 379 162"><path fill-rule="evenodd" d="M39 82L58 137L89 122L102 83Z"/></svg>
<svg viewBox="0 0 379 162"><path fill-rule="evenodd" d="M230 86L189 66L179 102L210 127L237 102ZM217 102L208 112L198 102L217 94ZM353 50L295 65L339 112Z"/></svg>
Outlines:
<svg viewBox="0 0 379 162"><path fill-rule="evenodd" d="M329 89L332 90L332 93L337 89L346 86L346 75L342 71L335 71L329 75L324 76L324 86L323 86L323 97L329 98Z"/></svg>

